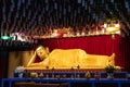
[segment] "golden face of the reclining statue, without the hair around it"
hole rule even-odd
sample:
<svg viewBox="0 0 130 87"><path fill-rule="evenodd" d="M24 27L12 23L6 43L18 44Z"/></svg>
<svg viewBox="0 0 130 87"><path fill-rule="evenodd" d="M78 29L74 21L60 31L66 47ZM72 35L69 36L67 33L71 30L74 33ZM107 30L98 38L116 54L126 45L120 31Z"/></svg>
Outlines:
<svg viewBox="0 0 130 87"><path fill-rule="evenodd" d="M48 52L43 47L37 48L36 53L41 60L44 60L48 57Z"/></svg>

